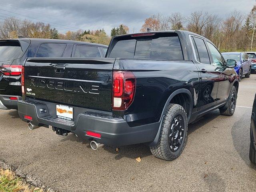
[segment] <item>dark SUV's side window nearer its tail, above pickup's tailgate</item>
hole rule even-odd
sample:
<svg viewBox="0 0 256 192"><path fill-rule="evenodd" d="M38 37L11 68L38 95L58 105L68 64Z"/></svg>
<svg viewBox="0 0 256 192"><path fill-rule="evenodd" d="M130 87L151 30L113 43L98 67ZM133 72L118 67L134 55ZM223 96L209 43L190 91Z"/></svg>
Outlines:
<svg viewBox="0 0 256 192"><path fill-rule="evenodd" d="M40 45L36 57L61 57L65 48L65 43L43 43Z"/></svg>

